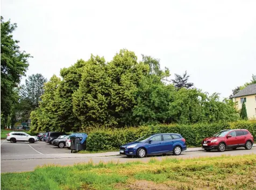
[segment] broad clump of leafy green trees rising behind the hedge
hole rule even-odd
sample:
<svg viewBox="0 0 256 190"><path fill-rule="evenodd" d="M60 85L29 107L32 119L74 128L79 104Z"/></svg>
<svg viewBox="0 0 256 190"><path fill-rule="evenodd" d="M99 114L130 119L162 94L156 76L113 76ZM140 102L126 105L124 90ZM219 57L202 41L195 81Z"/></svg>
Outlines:
<svg viewBox="0 0 256 190"><path fill-rule="evenodd" d="M60 75L45 84L42 102L31 113L33 131L238 119L230 101L220 102L217 93L175 88L167 81L169 70L160 70L159 59L143 55L138 62L134 52L125 49L108 63L93 55L78 60ZM186 83L187 74L183 77Z"/></svg>

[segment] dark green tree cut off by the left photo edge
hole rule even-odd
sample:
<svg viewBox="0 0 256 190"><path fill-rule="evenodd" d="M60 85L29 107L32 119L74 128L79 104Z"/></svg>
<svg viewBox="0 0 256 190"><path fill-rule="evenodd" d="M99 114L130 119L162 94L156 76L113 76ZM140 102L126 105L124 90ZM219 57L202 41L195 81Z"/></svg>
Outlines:
<svg viewBox="0 0 256 190"><path fill-rule="evenodd" d="M31 57L21 51L19 41L13 39L16 28L17 24L11 24L10 20L5 22L1 17L1 126L7 125L8 117L13 113L18 101L15 88L25 76Z"/></svg>

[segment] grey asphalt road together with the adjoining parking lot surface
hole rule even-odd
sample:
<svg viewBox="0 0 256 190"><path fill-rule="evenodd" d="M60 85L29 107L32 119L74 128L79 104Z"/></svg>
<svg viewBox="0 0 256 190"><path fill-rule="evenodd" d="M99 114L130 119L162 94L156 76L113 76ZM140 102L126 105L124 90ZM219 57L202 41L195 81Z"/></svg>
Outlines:
<svg viewBox="0 0 256 190"><path fill-rule="evenodd" d="M148 162L150 159L165 158L195 158L195 157L213 157L222 155L247 155L256 154L256 147L251 150L238 148L237 150L226 150L224 153L218 151L206 152L201 148L189 148L188 151L182 152L179 156L148 156L145 158L128 158L119 156L119 152L97 153L97 154L71 154L67 148L55 148L45 142L35 143L10 143L1 140L1 173L2 172L23 172L33 171L37 166L47 164L73 165L76 163L86 163L93 161L99 162ZM118 156L117 156L118 155ZM256 156L256 155L255 155Z"/></svg>

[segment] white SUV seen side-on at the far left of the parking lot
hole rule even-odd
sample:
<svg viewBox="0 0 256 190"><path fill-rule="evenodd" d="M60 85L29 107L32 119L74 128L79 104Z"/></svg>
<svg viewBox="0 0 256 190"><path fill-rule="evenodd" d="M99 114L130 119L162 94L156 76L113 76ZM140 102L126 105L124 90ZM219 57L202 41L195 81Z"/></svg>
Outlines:
<svg viewBox="0 0 256 190"><path fill-rule="evenodd" d="M31 136L24 132L11 132L7 134L6 140L10 142L30 142L34 143L35 141L38 141L37 136Z"/></svg>

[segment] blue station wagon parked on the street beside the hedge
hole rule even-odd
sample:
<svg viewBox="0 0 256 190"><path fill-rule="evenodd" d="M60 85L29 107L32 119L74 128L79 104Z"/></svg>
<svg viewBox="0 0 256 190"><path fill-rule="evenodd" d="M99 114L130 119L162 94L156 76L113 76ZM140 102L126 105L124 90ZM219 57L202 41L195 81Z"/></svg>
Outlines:
<svg viewBox="0 0 256 190"><path fill-rule="evenodd" d="M186 140L176 133L150 134L120 147L120 154L126 156L169 154L180 155L187 149Z"/></svg>

